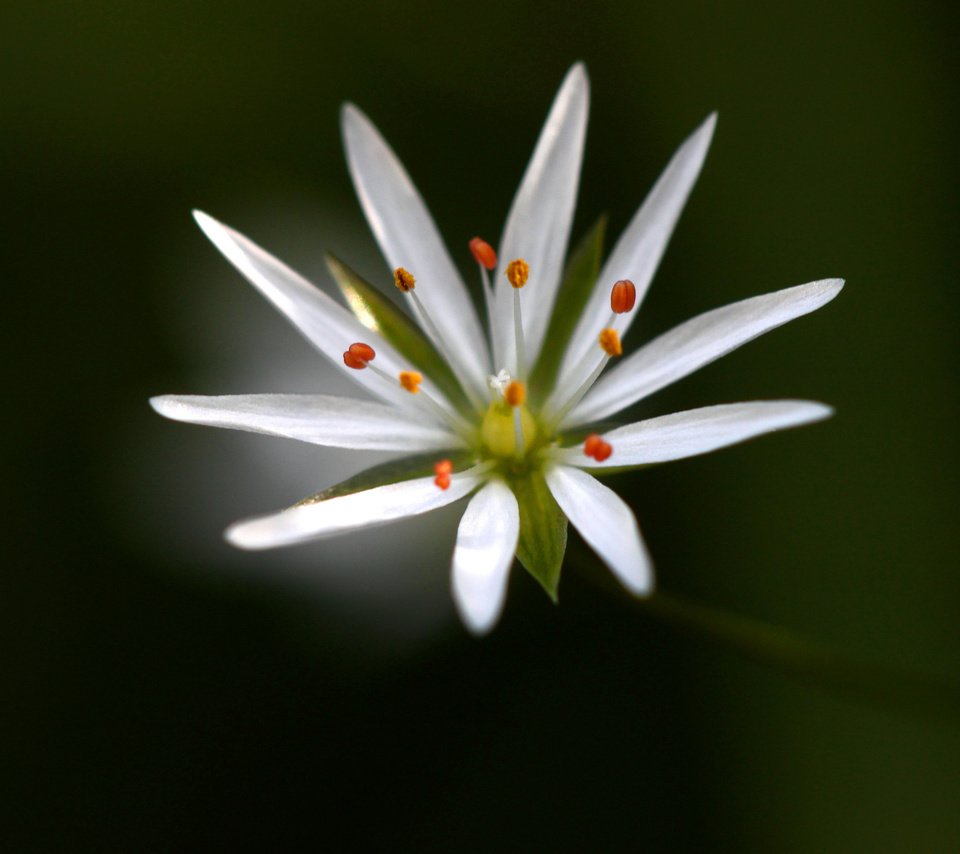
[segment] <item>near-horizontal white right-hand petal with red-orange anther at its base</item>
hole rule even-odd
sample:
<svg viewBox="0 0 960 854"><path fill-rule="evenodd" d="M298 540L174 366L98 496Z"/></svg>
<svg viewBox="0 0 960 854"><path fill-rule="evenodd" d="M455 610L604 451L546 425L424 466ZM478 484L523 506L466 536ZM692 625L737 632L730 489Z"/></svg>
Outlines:
<svg viewBox="0 0 960 854"><path fill-rule="evenodd" d="M662 463L705 454L773 430L810 424L832 414L829 406L807 400L704 406L612 430L604 439L613 446L613 453L602 463L586 457L582 446L565 448L558 459L590 469Z"/></svg>

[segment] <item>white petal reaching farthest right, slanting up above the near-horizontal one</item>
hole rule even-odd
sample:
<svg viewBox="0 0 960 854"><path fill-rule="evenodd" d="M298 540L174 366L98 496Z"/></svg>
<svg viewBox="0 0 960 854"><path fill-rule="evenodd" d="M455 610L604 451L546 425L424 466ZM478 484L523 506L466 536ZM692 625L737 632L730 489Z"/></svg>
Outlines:
<svg viewBox="0 0 960 854"><path fill-rule="evenodd" d="M820 308L842 287L842 279L823 279L735 302L681 323L608 371L564 419L564 426L626 409L764 332Z"/></svg>

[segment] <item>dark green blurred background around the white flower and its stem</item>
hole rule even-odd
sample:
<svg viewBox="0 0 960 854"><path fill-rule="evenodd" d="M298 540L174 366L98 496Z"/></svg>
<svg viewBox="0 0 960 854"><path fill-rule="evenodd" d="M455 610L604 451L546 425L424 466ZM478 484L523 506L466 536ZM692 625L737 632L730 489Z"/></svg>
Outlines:
<svg viewBox="0 0 960 854"><path fill-rule="evenodd" d="M477 641L447 595L455 514L399 557L407 535L385 529L368 563L359 540L236 555L229 521L333 470L312 448L275 465L282 443L146 404L328 387L192 207L317 281L325 249L382 281L343 163L349 99L454 251L495 240L583 59L575 236L602 212L618 234L720 114L634 343L847 279L834 304L640 408L838 411L621 478L661 588L960 678L950 12L6 0L6 850L960 850L956 721L752 663L574 566L558 608L515 572Z"/></svg>

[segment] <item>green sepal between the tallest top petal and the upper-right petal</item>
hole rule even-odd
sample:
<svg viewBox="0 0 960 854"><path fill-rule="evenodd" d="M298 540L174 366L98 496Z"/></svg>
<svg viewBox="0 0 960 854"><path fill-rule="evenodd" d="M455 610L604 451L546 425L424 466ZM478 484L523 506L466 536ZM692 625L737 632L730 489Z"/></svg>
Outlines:
<svg viewBox="0 0 960 854"><path fill-rule="evenodd" d="M546 343L530 374L530 395L535 403L542 403L553 388L567 343L597 283L606 230L607 218L602 216L587 232L567 262L550 325L543 339Z"/></svg>

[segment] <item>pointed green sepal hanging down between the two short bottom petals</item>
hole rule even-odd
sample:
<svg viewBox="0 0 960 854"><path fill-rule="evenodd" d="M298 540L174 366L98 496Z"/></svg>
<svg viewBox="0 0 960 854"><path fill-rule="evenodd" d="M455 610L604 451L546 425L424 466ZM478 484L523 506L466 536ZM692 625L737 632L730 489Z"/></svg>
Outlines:
<svg viewBox="0 0 960 854"><path fill-rule="evenodd" d="M556 602L560 567L567 548L567 517L550 494L541 474L511 478L510 488L520 505L517 557Z"/></svg>

